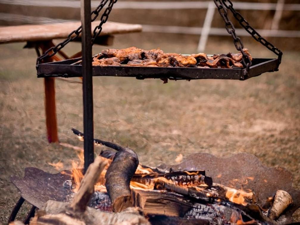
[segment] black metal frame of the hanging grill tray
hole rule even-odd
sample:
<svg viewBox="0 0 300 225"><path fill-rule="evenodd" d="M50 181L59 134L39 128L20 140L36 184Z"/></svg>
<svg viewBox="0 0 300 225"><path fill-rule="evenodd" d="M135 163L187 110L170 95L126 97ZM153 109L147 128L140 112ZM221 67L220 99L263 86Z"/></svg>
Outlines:
<svg viewBox="0 0 300 225"><path fill-rule="evenodd" d="M74 65L81 58L49 62L37 66L38 77L80 77L81 65ZM72 65L73 64L73 65ZM133 67L133 66L93 66L93 76L120 76L169 79L238 79L245 80L265 72L278 70L278 59L253 58L247 76L244 68L190 68L190 67Z"/></svg>

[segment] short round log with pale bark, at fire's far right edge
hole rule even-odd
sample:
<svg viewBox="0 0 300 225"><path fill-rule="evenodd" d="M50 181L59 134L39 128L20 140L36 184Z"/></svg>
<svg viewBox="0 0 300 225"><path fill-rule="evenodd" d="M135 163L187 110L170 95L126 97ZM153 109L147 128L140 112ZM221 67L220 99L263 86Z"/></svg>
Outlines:
<svg viewBox="0 0 300 225"><path fill-rule="evenodd" d="M274 196L273 205L268 211L268 217L276 220L281 213L292 204L292 197L284 190L277 190Z"/></svg>

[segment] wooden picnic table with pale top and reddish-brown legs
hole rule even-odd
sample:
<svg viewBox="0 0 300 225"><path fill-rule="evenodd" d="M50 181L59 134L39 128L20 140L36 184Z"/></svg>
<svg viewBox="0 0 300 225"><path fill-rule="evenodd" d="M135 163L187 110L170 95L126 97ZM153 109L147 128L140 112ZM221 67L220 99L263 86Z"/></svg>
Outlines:
<svg viewBox="0 0 300 225"><path fill-rule="evenodd" d="M99 22L91 23L91 32ZM12 42L27 42L25 47L35 48L39 55L44 54L50 47L55 46L53 39L67 38L70 32L76 30L81 25L80 22L65 22L56 24L41 24L41 25L21 25L21 26L6 26L0 27L0 44ZM106 22L103 25L102 32L95 39L95 44L111 45L113 35L124 34L131 32L141 32L142 26L139 24L126 24L119 22ZM75 41L81 41L77 38ZM51 52L49 52L50 54ZM58 55L53 55L47 60L60 61L69 58L81 56L81 52L77 52L72 56L68 56L63 51L59 51ZM46 60L45 60L46 61ZM34 66L34 65L33 65ZM55 79L44 78L45 85L45 111L46 111L46 127L49 143L58 142L57 134L57 119L55 105Z"/></svg>

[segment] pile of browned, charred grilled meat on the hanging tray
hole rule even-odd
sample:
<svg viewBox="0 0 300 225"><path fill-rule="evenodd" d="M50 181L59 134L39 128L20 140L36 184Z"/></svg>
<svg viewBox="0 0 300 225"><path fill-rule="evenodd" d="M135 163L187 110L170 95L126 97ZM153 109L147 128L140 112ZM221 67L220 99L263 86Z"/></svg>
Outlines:
<svg viewBox="0 0 300 225"><path fill-rule="evenodd" d="M248 49L243 51L252 56ZM236 54L218 54L208 56L205 53L192 55L181 55L178 53L164 53L160 48L143 50L137 47L126 49L106 49L93 58L94 66L113 65L120 66L151 66L151 67L199 67L199 68L232 68L243 67L241 63L243 55L241 52Z"/></svg>

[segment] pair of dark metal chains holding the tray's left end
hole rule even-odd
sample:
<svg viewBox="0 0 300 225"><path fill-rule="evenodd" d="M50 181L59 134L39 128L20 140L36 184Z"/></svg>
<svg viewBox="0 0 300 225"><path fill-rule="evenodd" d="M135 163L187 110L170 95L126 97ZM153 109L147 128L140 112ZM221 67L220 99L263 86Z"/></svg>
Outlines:
<svg viewBox="0 0 300 225"><path fill-rule="evenodd" d="M118 0L101 0L100 4L96 7L96 9L91 12L91 16L94 15L94 17L91 18L91 22L93 22L99 16L100 11L103 9L103 7L105 6L105 4L107 4L108 1L110 1L110 3L108 4L108 7L105 9L104 13L101 16L101 22L94 29L92 43L91 43L92 45L94 44L95 38L97 38L98 35L101 33L102 25L107 21L110 11L112 10L113 4L115 4ZM36 62L37 66L43 59L52 57L64 46L66 46L69 42L74 41L76 38L78 38L81 32L82 32L82 26L79 26L76 30L72 31L68 35L67 39L57 44L56 46L49 48L43 55L37 58L37 62ZM49 54L49 52L51 51L53 52Z"/></svg>

